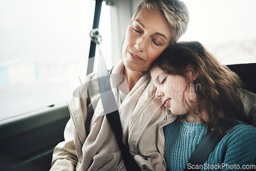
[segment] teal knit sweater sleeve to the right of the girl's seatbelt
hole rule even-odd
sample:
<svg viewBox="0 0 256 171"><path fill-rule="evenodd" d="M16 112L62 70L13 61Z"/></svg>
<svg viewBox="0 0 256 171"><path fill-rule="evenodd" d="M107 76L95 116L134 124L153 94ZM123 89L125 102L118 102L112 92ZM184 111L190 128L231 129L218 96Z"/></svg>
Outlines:
<svg viewBox="0 0 256 171"><path fill-rule="evenodd" d="M222 169L230 170L230 167L239 165L234 170L242 168L243 165L255 165L256 160L256 129L251 125L240 124L233 127L223 138L226 144L226 153ZM232 170L233 170L232 169Z"/></svg>

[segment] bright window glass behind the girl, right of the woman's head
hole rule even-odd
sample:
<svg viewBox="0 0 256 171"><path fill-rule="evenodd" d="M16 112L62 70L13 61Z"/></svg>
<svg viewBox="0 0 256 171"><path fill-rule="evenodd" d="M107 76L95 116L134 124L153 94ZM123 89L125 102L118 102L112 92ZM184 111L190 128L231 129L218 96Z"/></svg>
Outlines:
<svg viewBox="0 0 256 171"><path fill-rule="evenodd" d="M221 63L256 62L255 0L181 0L190 22L181 41L200 41Z"/></svg>

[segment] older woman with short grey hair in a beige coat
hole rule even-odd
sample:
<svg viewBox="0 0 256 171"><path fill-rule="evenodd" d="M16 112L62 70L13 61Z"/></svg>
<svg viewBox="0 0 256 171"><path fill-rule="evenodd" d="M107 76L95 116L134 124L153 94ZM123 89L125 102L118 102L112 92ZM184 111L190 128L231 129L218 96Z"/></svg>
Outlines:
<svg viewBox="0 0 256 171"><path fill-rule="evenodd" d="M164 135L162 126L175 120L154 98L155 88L148 76L153 61L176 42L187 28L189 16L179 0L144 0L127 28L122 60L110 71L127 79L117 83L115 95L123 133L134 159L144 170L165 170ZM80 95L69 101L71 119L64 136L54 149L51 170L124 170L125 166L115 136L99 96L95 73L87 76ZM112 82L113 86L113 82ZM89 104L90 103L90 104Z"/></svg>

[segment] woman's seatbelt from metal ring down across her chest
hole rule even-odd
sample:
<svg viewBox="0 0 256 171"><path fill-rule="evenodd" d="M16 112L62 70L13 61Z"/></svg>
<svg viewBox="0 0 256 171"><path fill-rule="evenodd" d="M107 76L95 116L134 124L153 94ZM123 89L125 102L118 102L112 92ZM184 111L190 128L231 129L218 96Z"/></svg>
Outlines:
<svg viewBox="0 0 256 171"><path fill-rule="evenodd" d="M104 58L99 48L101 36L96 28L91 31L90 35L91 35L92 41L96 45L98 45L98 49L99 49L97 80L99 84L99 92L100 92L100 98L102 101L104 114L109 121L112 132L115 135L126 170L127 171L141 170L139 165L133 158L132 154L130 153L129 149L125 146L125 144L122 141L123 139L122 126L120 121L120 115L118 112L118 106L117 106L113 91L111 89L109 71L106 67ZM94 60L90 61L89 59L88 65L91 65L90 67L91 67L91 70L93 71Z"/></svg>

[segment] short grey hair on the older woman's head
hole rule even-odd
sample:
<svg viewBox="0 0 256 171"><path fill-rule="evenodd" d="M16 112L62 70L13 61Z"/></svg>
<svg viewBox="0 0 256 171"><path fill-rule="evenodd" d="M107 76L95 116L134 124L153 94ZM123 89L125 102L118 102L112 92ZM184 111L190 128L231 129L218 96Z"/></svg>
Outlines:
<svg viewBox="0 0 256 171"><path fill-rule="evenodd" d="M140 10L159 10L167 19L172 33L170 45L174 44L186 32L189 22L189 13L186 5L179 0L144 0L135 13L132 20L137 16Z"/></svg>

